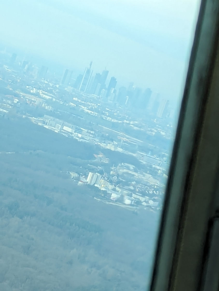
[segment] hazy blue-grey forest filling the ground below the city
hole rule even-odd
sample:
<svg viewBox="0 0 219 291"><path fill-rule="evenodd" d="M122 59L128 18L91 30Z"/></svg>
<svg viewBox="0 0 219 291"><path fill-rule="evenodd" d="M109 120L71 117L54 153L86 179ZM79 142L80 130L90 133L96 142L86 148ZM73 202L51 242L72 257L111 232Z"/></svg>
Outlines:
<svg viewBox="0 0 219 291"><path fill-rule="evenodd" d="M159 214L95 200L60 175L94 148L26 120L0 122L0 290L145 290Z"/></svg>

